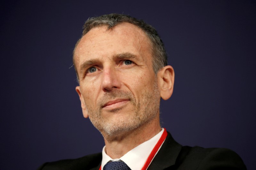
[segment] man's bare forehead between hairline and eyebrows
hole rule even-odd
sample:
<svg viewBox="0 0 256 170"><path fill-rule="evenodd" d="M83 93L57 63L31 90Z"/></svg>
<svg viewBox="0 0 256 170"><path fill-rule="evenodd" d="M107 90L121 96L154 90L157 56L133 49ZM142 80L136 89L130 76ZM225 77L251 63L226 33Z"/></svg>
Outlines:
<svg viewBox="0 0 256 170"><path fill-rule="evenodd" d="M130 23L121 23L109 30L107 26L95 27L78 43L74 59L78 66L86 58L110 57L125 52L143 57L151 56L150 42L142 29Z"/></svg>

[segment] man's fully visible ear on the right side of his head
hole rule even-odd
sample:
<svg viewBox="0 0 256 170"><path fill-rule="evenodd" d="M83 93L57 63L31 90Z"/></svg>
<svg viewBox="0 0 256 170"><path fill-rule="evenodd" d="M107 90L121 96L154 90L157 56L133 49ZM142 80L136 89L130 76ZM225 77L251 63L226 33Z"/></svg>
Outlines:
<svg viewBox="0 0 256 170"><path fill-rule="evenodd" d="M158 87L162 99L167 100L172 96L174 84L174 70L172 66L167 65L157 73Z"/></svg>

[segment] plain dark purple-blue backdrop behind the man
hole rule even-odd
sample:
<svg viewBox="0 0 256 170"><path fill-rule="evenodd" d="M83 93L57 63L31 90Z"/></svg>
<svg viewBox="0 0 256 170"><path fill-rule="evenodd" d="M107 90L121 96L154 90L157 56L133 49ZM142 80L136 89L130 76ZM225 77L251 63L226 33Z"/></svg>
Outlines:
<svg viewBox="0 0 256 170"><path fill-rule="evenodd" d="M107 13L144 19L162 37L175 85L161 121L176 141L230 148L254 169L256 3L245 0L2 2L0 169L101 152L69 67L85 20Z"/></svg>

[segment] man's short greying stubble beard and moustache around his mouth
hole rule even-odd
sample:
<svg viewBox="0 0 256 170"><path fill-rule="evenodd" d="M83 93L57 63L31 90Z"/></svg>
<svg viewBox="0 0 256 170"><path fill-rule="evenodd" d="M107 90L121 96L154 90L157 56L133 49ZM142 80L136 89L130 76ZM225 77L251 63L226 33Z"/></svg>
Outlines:
<svg viewBox="0 0 256 170"><path fill-rule="evenodd" d="M97 110L93 111L92 108L87 107L87 112L93 126L100 131L102 136L107 141L112 141L116 137L120 137L127 133L134 131L135 129L140 128L141 126L151 122L156 118L157 113L159 112L160 107L160 94L157 90L157 79L154 82L153 93L144 92L141 103L138 103L136 106L136 100L132 92L125 92L121 90L115 90L108 93L100 99L100 104ZM115 122L111 120L106 120L102 117L102 105L109 99L115 98L127 98L129 97L130 102L134 106L134 115L120 116ZM122 108L121 108L122 109ZM111 112L113 114L117 113L121 109L113 109Z"/></svg>

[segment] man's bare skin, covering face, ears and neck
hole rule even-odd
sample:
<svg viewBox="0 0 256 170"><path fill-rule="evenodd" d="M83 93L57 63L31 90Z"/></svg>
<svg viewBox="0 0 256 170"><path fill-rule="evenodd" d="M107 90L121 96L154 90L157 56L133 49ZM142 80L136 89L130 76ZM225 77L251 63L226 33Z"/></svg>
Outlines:
<svg viewBox="0 0 256 170"><path fill-rule="evenodd" d="M112 159L161 130L160 98L171 97L174 71L165 66L156 75L150 47L147 35L130 23L92 28L76 47L83 115L103 135Z"/></svg>

